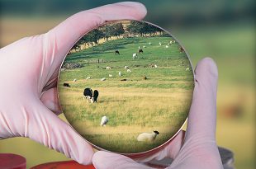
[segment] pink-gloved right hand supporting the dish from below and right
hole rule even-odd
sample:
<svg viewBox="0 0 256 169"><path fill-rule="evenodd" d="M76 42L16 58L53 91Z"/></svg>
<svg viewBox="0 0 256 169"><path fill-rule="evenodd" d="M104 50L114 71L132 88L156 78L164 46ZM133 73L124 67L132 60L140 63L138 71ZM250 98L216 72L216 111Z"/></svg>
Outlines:
<svg viewBox="0 0 256 169"><path fill-rule="evenodd" d="M157 153L135 160L115 153L99 151L92 157L97 169L148 169L137 162L173 159L169 169L220 169L222 163L216 145L216 92L218 71L212 59L202 59L195 70L195 88L187 120L187 131L179 134ZM135 162L137 161L137 162Z"/></svg>

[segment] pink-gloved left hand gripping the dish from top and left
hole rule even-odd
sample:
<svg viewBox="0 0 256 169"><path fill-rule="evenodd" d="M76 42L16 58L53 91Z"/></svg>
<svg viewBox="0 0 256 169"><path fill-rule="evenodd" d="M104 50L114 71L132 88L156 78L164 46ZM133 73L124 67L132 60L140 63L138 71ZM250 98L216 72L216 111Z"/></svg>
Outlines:
<svg viewBox="0 0 256 169"><path fill-rule="evenodd" d="M91 163L92 146L57 116L60 64L74 43L95 26L111 20L141 20L145 15L138 2L97 7L78 12L43 35L0 49L0 138L28 137L79 163Z"/></svg>

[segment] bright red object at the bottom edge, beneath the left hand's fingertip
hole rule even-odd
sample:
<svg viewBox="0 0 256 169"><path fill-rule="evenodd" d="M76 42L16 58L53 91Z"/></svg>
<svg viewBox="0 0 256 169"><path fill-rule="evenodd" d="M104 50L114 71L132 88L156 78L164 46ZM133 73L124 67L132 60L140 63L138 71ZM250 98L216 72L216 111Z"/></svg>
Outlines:
<svg viewBox="0 0 256 169"><path fill-rule="evenodd" d="M35 167L31 167L31 169L95 169L92 165L83 166L75 161L65 161L65 162L49 162L45 164L40 164Z"/></svg>

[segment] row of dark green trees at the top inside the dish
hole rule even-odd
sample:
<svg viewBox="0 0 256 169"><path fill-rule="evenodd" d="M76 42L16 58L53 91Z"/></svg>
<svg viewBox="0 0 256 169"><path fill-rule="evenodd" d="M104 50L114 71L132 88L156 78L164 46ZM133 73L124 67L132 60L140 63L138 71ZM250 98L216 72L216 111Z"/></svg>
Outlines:
<svg viewBox="0 0 256 169"><path fill-rule="evenodd" d="M124 35L125 32L129 36L152 36L152 35L163 35L161 29L156 26L149 25L145 22L130 21L130 24L126 26L126 30L121 23L115 23L107 26L101 26L97 29L90 31L87 35L84 35L81 40L73 45L74 50L79 50L81 45L97 45L99 40L111 40L111 37L120 38L121 35Z"/></svg>

